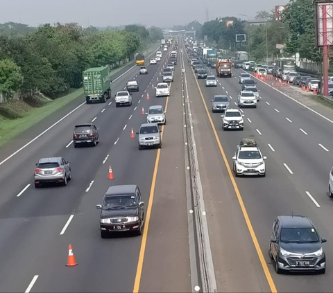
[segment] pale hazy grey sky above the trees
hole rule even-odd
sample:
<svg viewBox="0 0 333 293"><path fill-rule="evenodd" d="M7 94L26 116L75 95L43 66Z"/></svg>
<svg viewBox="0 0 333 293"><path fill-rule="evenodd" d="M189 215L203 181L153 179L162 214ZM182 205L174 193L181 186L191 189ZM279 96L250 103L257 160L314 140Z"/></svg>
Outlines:
<svg viewBox="0 0 333 293"><path fill-rule="evenodd" d="M0 0L0 23L30 26L77 22L81 26L143 24L171 28L198 20L234 16L253 19L255 12L272 10L289 0ZM247 15L247 16L239 16Z"/></svg>

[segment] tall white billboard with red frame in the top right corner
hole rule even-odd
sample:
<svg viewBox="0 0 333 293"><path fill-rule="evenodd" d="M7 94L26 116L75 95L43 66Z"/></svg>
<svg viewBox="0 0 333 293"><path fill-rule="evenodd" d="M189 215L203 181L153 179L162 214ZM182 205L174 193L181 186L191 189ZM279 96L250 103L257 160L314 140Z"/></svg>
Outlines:
<svg viewBox="0 0 333 293"><path fill-rule="evenodd" d="M333 1L315 1L316 44L333 46Z"/></svg>

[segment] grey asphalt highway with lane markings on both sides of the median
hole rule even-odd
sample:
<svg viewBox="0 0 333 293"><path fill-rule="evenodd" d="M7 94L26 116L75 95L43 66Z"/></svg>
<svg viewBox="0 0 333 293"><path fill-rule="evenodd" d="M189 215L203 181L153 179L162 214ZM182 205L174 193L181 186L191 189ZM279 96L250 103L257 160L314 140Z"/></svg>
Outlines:
<svg viewBox="0 0 333 293"><path fill-rule="evenodd" d="M116 108L113 98L86 105L82 97L1 148L1 292L193 292L200 285L188 222L185 85L217 290L332 291L333 202L327 189L333 121L257 80L257 109L241 109L244 131L224 132L221 113L212 113L210 100L226 94L231 107L238 108L243 71L233 69L232 78L219 78L217 87L207 88L187 62L182 40L179 47L169 98L155 98L169 58L163 52L161 62L148 65L148 75L138 75L138 67L129 65L112 76L112 96L128 80L139 82L131 107ZM146 112L150 105L167 111L162 149L139 150L130 131L146 123L142 108ZM74 149L74 125L90 121L99 127L99 145ZM268 157L266 177L235 178L230 171L236 145L246 137L253 137ZM35 189L35 163L56 156L71 162L73 179L66 187ZM114 180L108 180L109 166ZM117 184L137 184L142 191L142 236L100 237L95 206ZM291 214L307 215L327 238L326 274L275 273L268 256L273 221ZM65 267L69 244L77 267Z"/></svg>

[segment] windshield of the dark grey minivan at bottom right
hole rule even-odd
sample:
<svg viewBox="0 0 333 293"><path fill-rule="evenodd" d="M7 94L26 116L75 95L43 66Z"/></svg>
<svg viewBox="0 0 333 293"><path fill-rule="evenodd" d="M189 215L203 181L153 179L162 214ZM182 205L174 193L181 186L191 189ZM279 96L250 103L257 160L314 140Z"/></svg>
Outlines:
<svg viewBox="0 0 333 293"><path fill-rule="evenodd" d="M318 242L318 235L314 228L282 228L282 242Z"/></svg>

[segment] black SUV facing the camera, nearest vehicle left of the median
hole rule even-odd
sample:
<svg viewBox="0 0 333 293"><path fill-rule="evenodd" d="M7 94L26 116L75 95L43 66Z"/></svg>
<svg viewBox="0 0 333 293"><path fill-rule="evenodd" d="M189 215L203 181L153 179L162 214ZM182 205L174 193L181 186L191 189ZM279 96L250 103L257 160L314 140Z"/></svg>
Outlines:
<svg viewBox="0 0 333 293"><path fill-rule="evenodd" d="M109 187L101 210L101 238L112 232L135 232L142 234L144 228L144 202L137 185L117 185Z"/></svg>

